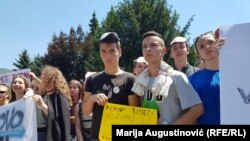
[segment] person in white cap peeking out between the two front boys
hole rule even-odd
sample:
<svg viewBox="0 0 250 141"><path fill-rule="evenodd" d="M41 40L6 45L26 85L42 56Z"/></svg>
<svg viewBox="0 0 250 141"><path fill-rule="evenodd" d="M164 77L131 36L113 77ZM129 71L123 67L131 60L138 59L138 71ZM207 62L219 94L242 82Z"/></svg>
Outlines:
<svg viewBox="0 0 250 141"><path fill-rule="evenodd" d="M148 62L144 59L143 56L138 57L134 60L133 73L138 77L141 72L143 72L148 67Z"/></svg>

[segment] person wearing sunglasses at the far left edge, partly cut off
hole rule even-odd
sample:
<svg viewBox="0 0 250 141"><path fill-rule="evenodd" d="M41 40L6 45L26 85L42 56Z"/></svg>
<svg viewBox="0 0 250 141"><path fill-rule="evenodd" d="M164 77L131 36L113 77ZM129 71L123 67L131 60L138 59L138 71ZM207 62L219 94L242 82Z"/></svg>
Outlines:
<svg viewBox="0 0 250 141"><path fill-rule="evenodd" d="M9 87L6 84L1 83L0 84L0 106L9 103L9 99L8 99L9 95L10 95Z"/></svg>

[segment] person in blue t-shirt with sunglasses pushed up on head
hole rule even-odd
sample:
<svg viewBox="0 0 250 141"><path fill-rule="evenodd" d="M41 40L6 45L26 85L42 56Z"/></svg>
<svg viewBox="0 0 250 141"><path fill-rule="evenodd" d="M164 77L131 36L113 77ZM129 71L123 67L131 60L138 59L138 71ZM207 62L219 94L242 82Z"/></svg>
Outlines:
<svg viewBox="0 0 250 141"><path fill-rule="evenodd" d="M213 32L203 33L194 40L199 57L206 64L204 69L189 77L204 105L199 124L220 124L219 49L224 41Z"/></svg>

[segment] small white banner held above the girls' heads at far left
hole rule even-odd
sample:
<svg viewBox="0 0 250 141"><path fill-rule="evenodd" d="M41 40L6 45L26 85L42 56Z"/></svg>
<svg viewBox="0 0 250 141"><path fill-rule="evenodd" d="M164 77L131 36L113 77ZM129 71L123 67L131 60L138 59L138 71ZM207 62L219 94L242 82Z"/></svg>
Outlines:
<svg viewBox="0 0 250 141"><path fill-rule="evenodd" d="M29 73L30 69L22 69L18 71L13 71L13 72L8 72L4 74L0 74L0 83L5 83L10 86L12 78L19 75L19 76L24 76L29 80Z"/></svg>

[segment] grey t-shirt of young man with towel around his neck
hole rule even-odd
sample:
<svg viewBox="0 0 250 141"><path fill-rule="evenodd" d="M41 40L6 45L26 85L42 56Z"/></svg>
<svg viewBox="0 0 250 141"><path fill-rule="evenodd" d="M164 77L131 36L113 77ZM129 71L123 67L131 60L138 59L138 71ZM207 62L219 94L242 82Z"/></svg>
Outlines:
<svg viewBox="0 0 250 141"><path fill-rule="evenodd" d="M172 76L166 77L170 77L170 82L168 82L169 89L164 94L165 96L153 95L154 77L149 78L148 88L144 91L144 100L156 100L159 106L158 124L171 123L181 116L183 110L201 103L198 94L184 73L173 71Z"/></svg>

